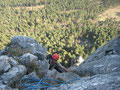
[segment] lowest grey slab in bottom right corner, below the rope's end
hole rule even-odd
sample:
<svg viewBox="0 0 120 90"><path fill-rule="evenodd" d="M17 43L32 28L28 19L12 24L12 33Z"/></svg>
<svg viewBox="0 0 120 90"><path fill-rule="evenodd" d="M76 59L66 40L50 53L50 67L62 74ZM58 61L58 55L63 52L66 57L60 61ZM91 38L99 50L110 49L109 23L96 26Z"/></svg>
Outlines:
<svg viewBox="0 0 120 90"><path fill-rule="evenodd" d="M72 84L64 84L58 88L47 90L119 90L120 72L111 74L98 74L76 80Z"/></svg>

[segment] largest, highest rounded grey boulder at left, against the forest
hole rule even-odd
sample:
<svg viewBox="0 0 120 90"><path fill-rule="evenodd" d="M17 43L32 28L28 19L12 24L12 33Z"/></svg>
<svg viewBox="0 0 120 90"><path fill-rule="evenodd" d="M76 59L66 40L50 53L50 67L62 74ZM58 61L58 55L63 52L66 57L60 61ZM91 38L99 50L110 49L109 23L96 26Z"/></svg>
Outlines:
<svg viewBox="0 0 120 90"><path fill-rule="evenodd" d="M38 59L44 60L47 49L31 37L14 36L6 51L10 56L21 56L25 53L31 53L36 55Z"/></svg>

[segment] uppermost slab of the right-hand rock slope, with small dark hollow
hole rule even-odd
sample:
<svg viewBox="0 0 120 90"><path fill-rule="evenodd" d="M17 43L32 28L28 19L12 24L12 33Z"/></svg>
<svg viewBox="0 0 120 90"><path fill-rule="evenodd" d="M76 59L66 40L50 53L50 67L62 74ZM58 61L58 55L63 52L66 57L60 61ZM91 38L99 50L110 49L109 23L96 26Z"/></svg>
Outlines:
<svg viewBox="0 0 120 90"><path fill-rule="evenodd" d="M104 56L120 55L120 36L117 36L107 44L98 48L94 53L89 55L84 63L92 62L101 59Z"/></svg>

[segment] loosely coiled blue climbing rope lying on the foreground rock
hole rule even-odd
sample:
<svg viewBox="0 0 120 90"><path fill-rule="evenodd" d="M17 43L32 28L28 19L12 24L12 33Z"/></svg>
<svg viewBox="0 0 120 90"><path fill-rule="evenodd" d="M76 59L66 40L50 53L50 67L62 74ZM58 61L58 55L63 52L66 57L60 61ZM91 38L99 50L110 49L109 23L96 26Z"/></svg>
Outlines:
<svg viewBox="0 0 120 90"><path fill-rule="evenodd" d="M42 79L22 78L20 80L20 84L23 87L25 87L25 89L23 89L23 90L34 90L34 89L46 90L47 88L57 87L57 86L60 86L62 84L67 84L68 82L75 81L75 80L80 80L80 79L75 78L75 79L71 79L67 82L64 82L64 81L60 81L60 80L48 79L48 77L45 77ZM47 83L46 81L54 81L54 82L58 82L60 84L51 85L51 84Z"/></svg>

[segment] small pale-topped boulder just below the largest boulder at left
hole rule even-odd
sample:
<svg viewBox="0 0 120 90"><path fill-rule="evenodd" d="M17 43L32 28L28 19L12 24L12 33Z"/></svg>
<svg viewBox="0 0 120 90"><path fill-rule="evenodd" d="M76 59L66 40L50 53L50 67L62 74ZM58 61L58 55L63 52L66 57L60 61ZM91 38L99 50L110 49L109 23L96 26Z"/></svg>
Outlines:
<svg viewBox="0 0 120 90"><path fill-rule="evenodd" d="M27 67L32 66L32 64L35 63L35 61L37 60L38 60L37 56L34 56L33 54L30 53L26 53L20 57L21 63Z"/></svg>

